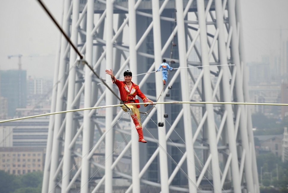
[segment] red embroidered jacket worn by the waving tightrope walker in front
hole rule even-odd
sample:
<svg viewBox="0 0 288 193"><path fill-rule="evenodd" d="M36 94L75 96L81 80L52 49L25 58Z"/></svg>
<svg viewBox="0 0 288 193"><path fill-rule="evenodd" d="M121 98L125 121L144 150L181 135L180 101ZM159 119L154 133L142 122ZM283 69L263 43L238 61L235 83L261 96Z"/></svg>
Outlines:
<svg viewBox="0 0 288 193"><path fill-rule="evenodd" d="M112 82L115 83L120 91L120 98L122 101L127 101L125 103L138 103L135 97L138 95L144 103L148 103L150 100L147 98L140 90L139 86L137 84L134 84L132 82L131 90L129 90L128 85L125 83L125 81L119 81L115 78L112 79ZM135 102L130 102L130 101L135 101ZM139 100L138 100L139 101ZM148 105L148 104L147 104ZM147 106L144 105L144 106ZM139 107L138 107L139 106ZM140 105L137 105L137 108L140 108Z"/></svg>

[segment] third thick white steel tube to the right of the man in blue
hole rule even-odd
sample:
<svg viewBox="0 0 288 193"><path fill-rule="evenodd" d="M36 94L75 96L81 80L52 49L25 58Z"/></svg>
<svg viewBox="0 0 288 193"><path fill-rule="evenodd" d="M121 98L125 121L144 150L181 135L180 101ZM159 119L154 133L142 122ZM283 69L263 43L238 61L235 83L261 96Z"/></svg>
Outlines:
<svg viewBox="0 0 288 193"><path fill-rule="evenodd" d="M216 22L219 30L219 39L218 39L218 46L219 46L219 59L220 64L224 65L227 64L227 55L226 55L226 45L225 45L225 37L224 37L224 20L223 20L223 10L222 10L222 1L215 0L215 9L216 9ZM229 86L229 67L228 66L221 66L223 70L222 74L222 81L221 81L221 91L223 92L223 99L225 102L231 102L231 95L230 95L230 86ZM225 112L227 112L226 118L226 125L225 130L228 135L228 143L229 143L229 150L232 157L231 160L231 170L232 170L232 179L233 179L233 189L235 193L241 192L241 181L239 176L239 166L238 166L238 155L237 155L237 146L235 141L235 128L233 122L233 109L231 104L225 105ZM223 117L222 117L223 118ZM227 160L228 161L228 160ZM222 179L223 181L224 179Z"/></svg>

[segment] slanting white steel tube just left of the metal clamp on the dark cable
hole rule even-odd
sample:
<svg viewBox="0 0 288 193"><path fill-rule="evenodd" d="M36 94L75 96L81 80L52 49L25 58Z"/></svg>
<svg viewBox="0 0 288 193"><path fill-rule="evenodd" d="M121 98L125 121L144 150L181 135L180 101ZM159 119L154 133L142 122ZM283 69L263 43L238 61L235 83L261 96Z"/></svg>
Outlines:
<svg viewBox="0 0 288 193"><path fill-rule="evenodd" d="M76 22L79 18L79 0L73 0L73 10L72 10L72 26L71 26L71 42L75 45L77 45L77 37L78 37L78 28L76 25ZM71 71L69 72L69 84L68 84L68 95L67 95L67 110L72 110L72 102L74 100L75 96L75 75L76 70L73 67L75 60L77 58L77 53L70 48L70 64L69 69L71 68ZM73 121L74 112L69 112L66 114L66 127L65 127L65 141L64 141L64 165L63 165L63 172L62 172L62 187L61 192L66 193L67 186L69 185L70 181L70 175L67 175L69 171L71 170L72 164L72 151L69 149L69 144L72 141L72 128L74 128L75 122Z"/></svg>

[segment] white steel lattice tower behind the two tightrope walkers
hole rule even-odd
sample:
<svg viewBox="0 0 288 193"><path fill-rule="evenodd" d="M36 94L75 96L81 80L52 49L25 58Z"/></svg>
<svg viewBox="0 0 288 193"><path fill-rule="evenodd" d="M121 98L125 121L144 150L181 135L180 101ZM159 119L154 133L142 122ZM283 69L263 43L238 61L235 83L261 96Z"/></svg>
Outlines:
<svg viewBox="0 0 288 193"><path fill-rule="evenodd" d="M130 69L153 101L246 102L241 23L239 0L64 0L62 28L102 78ZM134 75L163 58L179 68L161 94L161 73ZM51 111L119 103L64 38L56 66ZM132 125L120 107L51 116L42 193L259 192L248 106L157 104L146 144Z"/></svg>

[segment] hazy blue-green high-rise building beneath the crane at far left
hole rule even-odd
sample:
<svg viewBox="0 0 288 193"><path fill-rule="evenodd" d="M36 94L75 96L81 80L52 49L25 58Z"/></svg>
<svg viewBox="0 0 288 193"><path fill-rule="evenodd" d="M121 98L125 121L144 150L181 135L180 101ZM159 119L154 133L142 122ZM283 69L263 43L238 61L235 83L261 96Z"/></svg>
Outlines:
<svg viewBox="0 0 288 193"><path fill-rule="evenodd" d="M26 107L26 87L26 70L0 71L0 93L7 98L8 117L14 117L17 108Z"/></svg>

